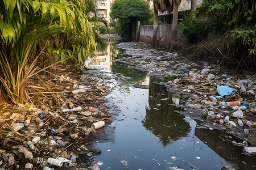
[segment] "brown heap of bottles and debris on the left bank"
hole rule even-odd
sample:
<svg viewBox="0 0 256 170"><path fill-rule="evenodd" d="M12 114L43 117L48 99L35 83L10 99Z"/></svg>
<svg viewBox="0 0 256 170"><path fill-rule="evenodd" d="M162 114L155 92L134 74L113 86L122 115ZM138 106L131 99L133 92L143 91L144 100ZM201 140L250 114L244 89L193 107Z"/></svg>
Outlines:
<svg viewBox="0 0 256 170"><path fill-rule="evenodd" d="M79 80L56 77L60 90L56 103L50 99L42 105L2 103L0 168L76 166L77 154L90 152L90 138L111 120L102 105L102 96L109 92L102 78L90 70Z"/></svg>

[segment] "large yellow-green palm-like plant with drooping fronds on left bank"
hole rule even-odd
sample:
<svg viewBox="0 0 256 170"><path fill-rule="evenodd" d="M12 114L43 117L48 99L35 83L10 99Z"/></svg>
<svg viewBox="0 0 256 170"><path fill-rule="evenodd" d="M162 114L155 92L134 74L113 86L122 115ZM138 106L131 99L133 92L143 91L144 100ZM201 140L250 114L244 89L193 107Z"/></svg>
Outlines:
<svg viewBox="0 0 256 170"><path fill-rule="evenodd" d="M0 81L5 97L32 103L27 82L50 67L44 61L71 58L81 64L93 57L96 45L104 44L90 24L104 22L97 18L96 7L92 0L0 0Z"/></svg>

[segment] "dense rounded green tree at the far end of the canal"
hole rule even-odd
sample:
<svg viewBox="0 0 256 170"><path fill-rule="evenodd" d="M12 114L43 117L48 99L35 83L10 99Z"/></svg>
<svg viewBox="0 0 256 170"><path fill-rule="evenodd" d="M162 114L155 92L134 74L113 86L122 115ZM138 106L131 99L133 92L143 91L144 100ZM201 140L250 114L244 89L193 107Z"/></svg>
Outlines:
<svg viewBox="0 0 256 170"><path fill-rule="evenodd" d="M150 6L142 0L116 0L110 13L117 20L117 31L126 40L135 40L137 21L150 18Z"/></svg>

